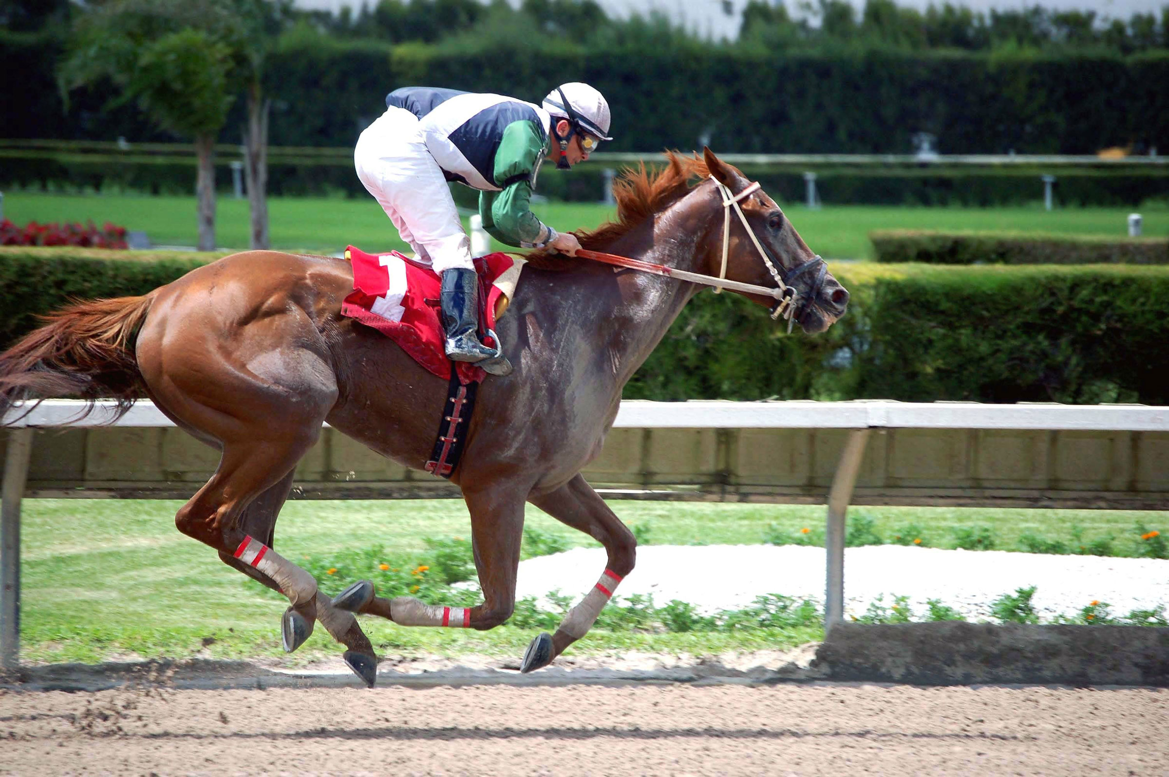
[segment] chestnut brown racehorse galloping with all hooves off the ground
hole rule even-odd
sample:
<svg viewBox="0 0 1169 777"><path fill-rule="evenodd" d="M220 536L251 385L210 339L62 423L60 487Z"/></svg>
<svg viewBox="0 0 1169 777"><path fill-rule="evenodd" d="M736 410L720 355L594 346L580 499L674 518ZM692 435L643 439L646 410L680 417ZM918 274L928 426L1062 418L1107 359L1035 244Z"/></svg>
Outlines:
<svg viewBox="0 0 1169 777"><path fill-rule="evenodd" d="M627 171L615 186L618 222L581 234L589 249L718 275L724 195L749 181L706 150L667 154L664 171ZM700 181L692 183L692 179ZM844 314L848 292L823 269L761 189L741 201L758 248L731 227L726 278L777 287L761 250L798 293L809 333ZM347 263L245 251L199 268L145 297L79 303L0 354L0 410L25 397L148 396L175 424L222 451L219 469L175 515L180 532L215 548L240 571L289 597L284 645L295 650L316 620L347 647L373 685L373 646L346 610L403 625L491 629L512 613L530 501L599 540L608 567L555 634L540 634L523 668L546 666L579 639L611 588L634 568L634 535L581 477L601 450L625 382L701 286L582 259L530 256L498 333L516 366L489 377L451 480L471 514L484 603L466 611L387 601L359 583L334 602L271 549L293 467L321 424L403 465L423 469L443 411L447 381L390 340L341 318L352 290ZM812 268L816 272L804 272ZM749 294L748 294L749 296ZM749 296L770 305L774 299ZM452 615L454 610L454 615Z"/></svg>

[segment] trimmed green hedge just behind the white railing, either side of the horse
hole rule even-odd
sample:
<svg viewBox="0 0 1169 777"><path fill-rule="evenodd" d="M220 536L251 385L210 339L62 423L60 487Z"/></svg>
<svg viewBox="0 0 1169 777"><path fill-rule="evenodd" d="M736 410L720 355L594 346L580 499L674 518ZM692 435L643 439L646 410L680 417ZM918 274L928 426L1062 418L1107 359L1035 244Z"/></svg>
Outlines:
<svg viewBox="0 0 1169 777"><path fill-rule="evenodd" d="M0 249L0 337L28 331L70 296L144 293L219 256L134 255ZM1167 266L831 269L852 303L828 332L787 335L741 297L704 292L624 396L1169 404Z"/></svg>

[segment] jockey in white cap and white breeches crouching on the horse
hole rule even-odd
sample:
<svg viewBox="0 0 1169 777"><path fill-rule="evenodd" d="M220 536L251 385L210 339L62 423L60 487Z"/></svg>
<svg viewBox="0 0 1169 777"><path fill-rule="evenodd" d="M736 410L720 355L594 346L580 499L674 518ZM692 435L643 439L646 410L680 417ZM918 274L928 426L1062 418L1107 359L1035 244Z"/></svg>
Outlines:
<svg viewBox="0 0 1169 777"><path fill-rule="evenodd" d="M532 213L540 164L568 169L611 140L609 104L588 84L567 83L541 105L502 95L404 86L358 139L358 178L419 261L442 277L447 355L507 375L511 362L478 337L478 278L447 181L479 190L484 228L500 243L574 255L580 243ZM498 346L498 344L497 344Z"/></svg>

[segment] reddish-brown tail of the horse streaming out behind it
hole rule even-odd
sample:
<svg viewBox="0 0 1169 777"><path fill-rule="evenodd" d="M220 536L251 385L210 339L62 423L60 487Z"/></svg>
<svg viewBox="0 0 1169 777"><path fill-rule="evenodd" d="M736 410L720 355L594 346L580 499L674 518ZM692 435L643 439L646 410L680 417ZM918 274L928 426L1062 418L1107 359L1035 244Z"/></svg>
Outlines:
<svg viewBox="0 0 1169 777"><path fill-rule="evenodd" d="M19 400L112 398L120 417L145 393L134 339L153 294L75 301L0 353L0 419ZM26 405L28 408L29 405Z"/></svg>

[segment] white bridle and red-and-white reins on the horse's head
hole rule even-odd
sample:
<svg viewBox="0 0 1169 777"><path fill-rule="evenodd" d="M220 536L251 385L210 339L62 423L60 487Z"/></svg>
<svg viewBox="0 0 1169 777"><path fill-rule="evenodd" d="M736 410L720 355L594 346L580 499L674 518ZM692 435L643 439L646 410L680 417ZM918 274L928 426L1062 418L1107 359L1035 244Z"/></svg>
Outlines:
<svg viewBox="0 0 1169 777"><path fill-rule="evenodd" d="M719 277L706 276L699 272L690 272L689 270L678 270L676 268L670 268L664 264L655 264L653 262L643 262L641 259L631 259L625 256L617 256L616 254L604 254L603 251L590 251L588 249L581 248L576 250L576 256L583 257L586 259L593 259L594 262L603 262L604 264L611 264L618 268L629 268L630 270L639 270L641 272L649 272L650 275L664 276L666 278L677 278L678 280L689 280L690 283L701 284L704 286L713 286L714 293L720 293L724 289L729 289L731 291L741 291L747 294L760 294L761 297L772 297L775 299L775 305L772 306L772 318L777 319L781 315L788 322L788 332L791 332L791 325L795 322L796 312L796 298L798 292L788 284L783 283L783 277L775 263L772 262L772 257L763 249L762 243L755 236L755 230L750 228L747 223L747 216L743 215L742 208L739 207L739 201L743 200L761 187L759 181L753 182L750 186L745 188L739 194L731 194L731 189L722 185L721 181L715 179L713 175L711 180L714 181L714 186L718 187L719 193L722 195L722 265L719 271ZM739 218L742 221L743 229L747 230L747 235L750 237L750 242L755 244L759 249L759 255L763 259L763 264L767 265L768 272L775 278L776 287L772 289L769 286L758 286L750 283L741 283L739 280L731 280L727 276L727 257L731 250L731 208L734 208L735 213L739 214ZM816 298L816 293L819 291L819 286L824 282L824 276L828 272L828 265L824 259L818 256L804 262L797 268L788 272L788 280L791 278L808 272L812 268L817 268L816 279L811 284L810 299Z"/></svg>

